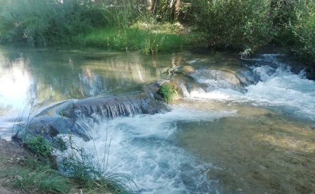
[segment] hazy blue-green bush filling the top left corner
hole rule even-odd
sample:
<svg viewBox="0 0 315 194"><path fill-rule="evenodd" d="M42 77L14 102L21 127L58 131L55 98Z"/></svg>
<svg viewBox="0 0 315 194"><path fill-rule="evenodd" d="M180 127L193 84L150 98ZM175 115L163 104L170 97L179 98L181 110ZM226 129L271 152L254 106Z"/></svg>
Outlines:
<svg viewBox="0 0 315 194"><path fill-rule="evenodd" d="M2 41L26 40L30 45L69 42L71 36L91 29L88 1L12 0L1 13Z"/></svg>

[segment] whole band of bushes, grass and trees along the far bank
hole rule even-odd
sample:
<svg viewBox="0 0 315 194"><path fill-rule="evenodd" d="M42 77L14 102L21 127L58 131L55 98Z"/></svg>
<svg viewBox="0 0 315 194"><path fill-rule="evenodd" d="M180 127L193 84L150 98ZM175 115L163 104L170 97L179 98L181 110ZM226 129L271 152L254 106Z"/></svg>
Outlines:
<svg viewBox="0 0 315 194"><path fill-rule="evenodd" d="M149 11L147 2L152 3ZM175 19L176 2L180 7ZM0 4L1 43L86 44L143 53L190 45L236 51L277 45L315 63L312 0L0 0ZM178 24L184 30L174 30Z"/></svg>

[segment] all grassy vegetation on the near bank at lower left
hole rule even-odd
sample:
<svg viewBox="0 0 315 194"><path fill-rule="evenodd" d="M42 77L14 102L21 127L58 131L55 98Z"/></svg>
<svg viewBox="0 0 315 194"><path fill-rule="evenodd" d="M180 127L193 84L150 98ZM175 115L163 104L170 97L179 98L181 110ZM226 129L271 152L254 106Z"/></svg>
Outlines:
<svg viewBox="0 0 315 194"><path fill-rule="evenodd" d="M108 168L104 163L108 154L94 164L91 155L77 147L70 134L63 138L67 149L61 150L56 150L59 147L41 136L22 137L20 141L36 158L25 160L19 169L8 170L6 174L14 177L12 186L25 193L63 194L80 188L84 193L128 194L138 189L131 176L104 170Z"/></svg>

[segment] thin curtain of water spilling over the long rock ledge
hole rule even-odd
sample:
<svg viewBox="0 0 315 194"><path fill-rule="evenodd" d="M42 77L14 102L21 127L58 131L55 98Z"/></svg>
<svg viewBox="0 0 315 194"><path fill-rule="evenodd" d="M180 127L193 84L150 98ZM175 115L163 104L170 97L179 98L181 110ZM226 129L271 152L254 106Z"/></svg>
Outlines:
<svg viewBox="0 0 315 194"><path fill-rule="evenodd" d="M61 110L63 116L80 120L92 118L99 121L103 118L134 116L137 114L155 114L167 111L167 106L146 95L133 96L101 96L74 102Z"/></svg>

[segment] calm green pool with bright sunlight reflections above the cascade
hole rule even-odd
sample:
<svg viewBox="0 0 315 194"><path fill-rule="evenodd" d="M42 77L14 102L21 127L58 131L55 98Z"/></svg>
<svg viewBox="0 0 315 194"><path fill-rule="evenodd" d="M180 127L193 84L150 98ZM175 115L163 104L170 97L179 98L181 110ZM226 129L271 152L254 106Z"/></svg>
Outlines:
<svg viewBox="0 0 315 194"><path fill-rule="evenodd" d="M0 47L0 104L22 108L29 102L130 93L180 60L136 52Z"/></svg>

